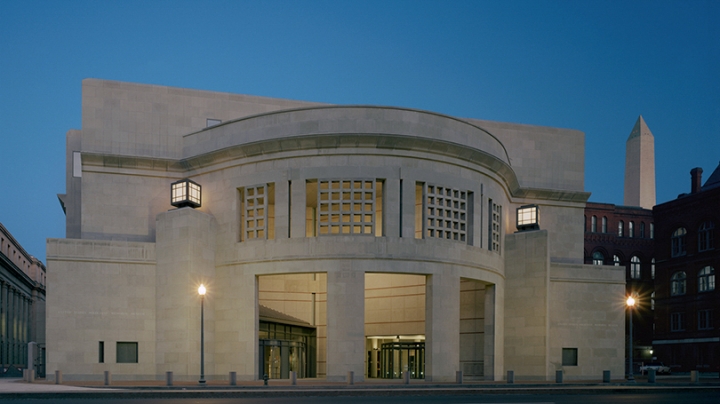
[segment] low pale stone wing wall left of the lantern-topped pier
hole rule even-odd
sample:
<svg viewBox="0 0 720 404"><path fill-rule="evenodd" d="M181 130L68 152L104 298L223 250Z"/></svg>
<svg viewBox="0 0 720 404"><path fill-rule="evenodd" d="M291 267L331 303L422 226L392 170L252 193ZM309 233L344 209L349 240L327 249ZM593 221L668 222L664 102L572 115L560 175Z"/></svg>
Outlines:
<svg viewBox="0 0 720 404"><path fill-rule="evenodd" d="M47 260L48 378L155 378L155 244L50 239ZM118 341L138 343L138 363L116 363Z"/></svg>

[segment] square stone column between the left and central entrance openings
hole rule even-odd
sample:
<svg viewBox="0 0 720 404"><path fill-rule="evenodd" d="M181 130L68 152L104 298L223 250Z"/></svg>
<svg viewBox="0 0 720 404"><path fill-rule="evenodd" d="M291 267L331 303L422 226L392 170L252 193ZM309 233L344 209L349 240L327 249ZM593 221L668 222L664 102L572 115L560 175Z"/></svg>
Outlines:
<svg viewBox="0 0 720 404"><path fill-rule="evenodd" d="M327 380L365 374L365 273L350 263L327 274Z"/></svg>

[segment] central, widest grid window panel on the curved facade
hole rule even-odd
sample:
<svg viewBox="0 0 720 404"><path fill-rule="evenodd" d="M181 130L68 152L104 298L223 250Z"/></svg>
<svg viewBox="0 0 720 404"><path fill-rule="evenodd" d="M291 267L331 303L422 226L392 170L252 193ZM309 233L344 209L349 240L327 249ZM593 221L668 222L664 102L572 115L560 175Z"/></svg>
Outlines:
<svg viewBox="0 0 720 404"><path fill-rule="evenodd" d="M318 234L375 234L374 179L320 180Z"/></svg>

